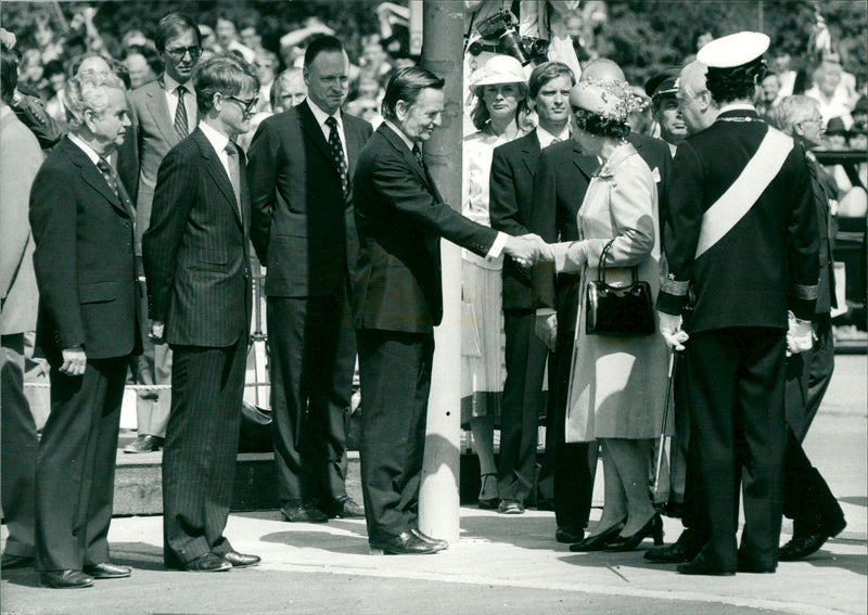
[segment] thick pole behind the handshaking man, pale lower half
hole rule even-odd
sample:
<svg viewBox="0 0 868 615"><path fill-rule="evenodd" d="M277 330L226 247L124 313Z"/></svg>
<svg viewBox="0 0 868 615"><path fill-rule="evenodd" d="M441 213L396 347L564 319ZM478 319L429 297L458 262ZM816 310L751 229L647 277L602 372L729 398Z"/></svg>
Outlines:
<svg viewBox="0 0 868 615"><path fill-rule="evenodd" d="M425 143L425 164L444 200L460 209L464 4L455 0L424 0L411 2L410 10L418 10L420 4L422 66L446 79L443 125ZM461 458L461 249L442 240L441 254L443 323L434 330L419 527L429 536L455 542L459 537Z"/></svg>

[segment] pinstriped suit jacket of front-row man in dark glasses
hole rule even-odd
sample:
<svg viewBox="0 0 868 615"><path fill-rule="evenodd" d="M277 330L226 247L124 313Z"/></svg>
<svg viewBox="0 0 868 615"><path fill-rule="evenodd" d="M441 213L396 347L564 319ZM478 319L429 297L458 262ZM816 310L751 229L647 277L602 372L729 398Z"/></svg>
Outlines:
<svg viewBox="0 0 868 615"><path fill-rule="evenodd" d="M142 239L149 313L173 345L227 347L250 334L250 201L241 208L217 152L196 128L169 150Z"/></svg>

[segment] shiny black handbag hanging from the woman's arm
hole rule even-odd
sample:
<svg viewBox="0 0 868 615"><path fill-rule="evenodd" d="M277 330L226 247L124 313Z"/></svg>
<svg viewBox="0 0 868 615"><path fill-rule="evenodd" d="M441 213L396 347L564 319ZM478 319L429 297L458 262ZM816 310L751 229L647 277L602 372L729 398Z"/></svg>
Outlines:
<svg viewBox="0 0 868 615"><path fill-rule="evenodd" d="M651 286L639 280L637 267L630 267L628 286L605 283L605 257L612 243L600 255L597 280L588 281L585 293L585 333L588 335L651 335L654 333Z"/></svg>

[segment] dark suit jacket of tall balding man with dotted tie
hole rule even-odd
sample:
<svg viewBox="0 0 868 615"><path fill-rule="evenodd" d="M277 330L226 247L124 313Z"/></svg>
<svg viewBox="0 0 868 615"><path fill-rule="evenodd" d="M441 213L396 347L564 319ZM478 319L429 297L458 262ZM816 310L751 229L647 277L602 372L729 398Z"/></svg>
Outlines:
<svg viewBox="0 0 868 615"><path fill-rule="evenodd" d="M371 125L346 113L341 120L352 188ZM329 296L352 279L358 258L353 191L344 198L329 142L307 102L259 125L247 177L251 241L267 267L267 295Z"/></svg>

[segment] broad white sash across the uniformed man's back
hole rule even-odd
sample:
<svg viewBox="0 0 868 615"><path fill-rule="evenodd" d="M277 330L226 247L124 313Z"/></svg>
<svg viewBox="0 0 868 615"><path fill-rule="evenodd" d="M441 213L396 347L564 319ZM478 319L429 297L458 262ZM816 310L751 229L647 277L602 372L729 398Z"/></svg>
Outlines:
<svg viewBox="0 0 868 615"><path fill-rule="evenodd" d="M741 175L702 216L695 258L720 241L751 210L777 177L792 149L793 140L790 137L768 128Z"/></svg>

